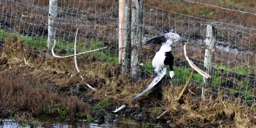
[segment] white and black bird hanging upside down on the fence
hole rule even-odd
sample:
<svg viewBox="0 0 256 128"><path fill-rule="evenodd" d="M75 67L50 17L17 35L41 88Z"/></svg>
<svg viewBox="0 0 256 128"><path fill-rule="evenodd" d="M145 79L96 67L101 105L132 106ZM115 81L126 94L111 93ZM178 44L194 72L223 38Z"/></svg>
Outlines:
<svg viewBox="0 0 256 128"><path fill-rule="evenodd" d="M159 44L161 48L152 60L152 68L154 69L154 73L156 78L149 84L148 88L146 88L143 92L133 97L133 99L138 98L142 94L146 93L148 90L153 88L162 78L166 75L166 67L169 65L170 67L170 77L171 79L174 77L174 69L173 69L173 61L174 57L171 53L172 48L171 45L173 42L180 40L180 36L174 32L173 30L166 29L167 32L165 34L152 38L148 40L146 45L150 44Z"/></svg>

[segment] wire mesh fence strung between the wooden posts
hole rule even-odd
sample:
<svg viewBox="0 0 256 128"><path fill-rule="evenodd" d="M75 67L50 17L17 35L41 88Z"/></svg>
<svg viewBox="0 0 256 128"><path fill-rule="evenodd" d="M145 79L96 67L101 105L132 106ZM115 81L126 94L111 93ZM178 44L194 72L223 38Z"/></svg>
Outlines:
<svg viewBox="0 0 256 128"><path fill-rule="evenodd" d="M126 7L131 6L130 4ZM181 35L181 40L172 44L174 60L174 78L165 77L164 86L183 86L189 77L192 68L188 65L183 46L188 43L187 55L199 67L204 70L206 26L211 24L216 28L216 45L214 71L209 73L213 79L209 85L209 96L224 95L225 98L241 98L245 104L255 102L256 81L256 28L248 22L256 19L254 13L241 13L234 10L225 11L232 16L213 17L212 11L199 12L202 16L193 16L189 11L179 13L178 10L168 11L142 3L144 10L142 24L127 24L141 27L142 40L137 51L139 63L136 79L142 80L153 76L152 59L160 46L142 46L146 40L162 34L166 29L173 29ZM196 5L197 3L187 3ZM88 53L79 59L88 59L90 62L102 61L118 65L118 1L74 1L60 0L57 7L57 28L55 39L57 45L54 52L58 55L71 55L74 53L74 39L76 29L77 52L90 51L108 46L92 53ZM196 5L205 7L206 5ZM49 1L24 1L24 0L0 0L0 45L3 45L7 36L16 35L27 48L32 49L35 56L46 53L48 36ZM207 6L208 8L208 6ZM214 9L211 7L210 9ZM218 8L215 11L224 11ZM210 18L204 18L205 16ZM215 14L216 15L216 14ZM255 20L254 20L255 21ZM132 25L129 30L133 29ZM130 39L127 39L130 40ZM131 46L131 41L128 41ZM128 50L128 49L127 49ZM125 59L131 60L131 52L127 51ZM78 60L79 63L79 60ZM143 64L141 64L143 63ZM130 64L125 65L126 75L130 75ZM132 77L133 79L133 77ZM134 82L139 82L135 81ZM201 96L203 77L194 73L189 89L195 94L195 98Z"/></svg>

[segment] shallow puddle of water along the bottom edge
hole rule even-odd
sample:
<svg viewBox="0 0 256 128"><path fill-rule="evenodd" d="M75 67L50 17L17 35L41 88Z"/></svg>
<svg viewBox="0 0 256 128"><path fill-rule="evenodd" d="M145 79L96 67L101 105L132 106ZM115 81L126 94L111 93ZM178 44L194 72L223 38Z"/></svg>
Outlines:
<svg viewBox="0 0 256 128"><path fill-rule="evenodd" d="M117 116L117 120L112 123L95 123L89 122L87 120L69 120L64 118L54 118L54 117L37 117L42 125L38 128L142 128L142 127L168 127L168 124L156 124L156 123L147 123L140 122L133 118L125 118L122 116ZM30 128L29 125L21 126L14 118L1 119L0 118L0 128Z"/></svg>

